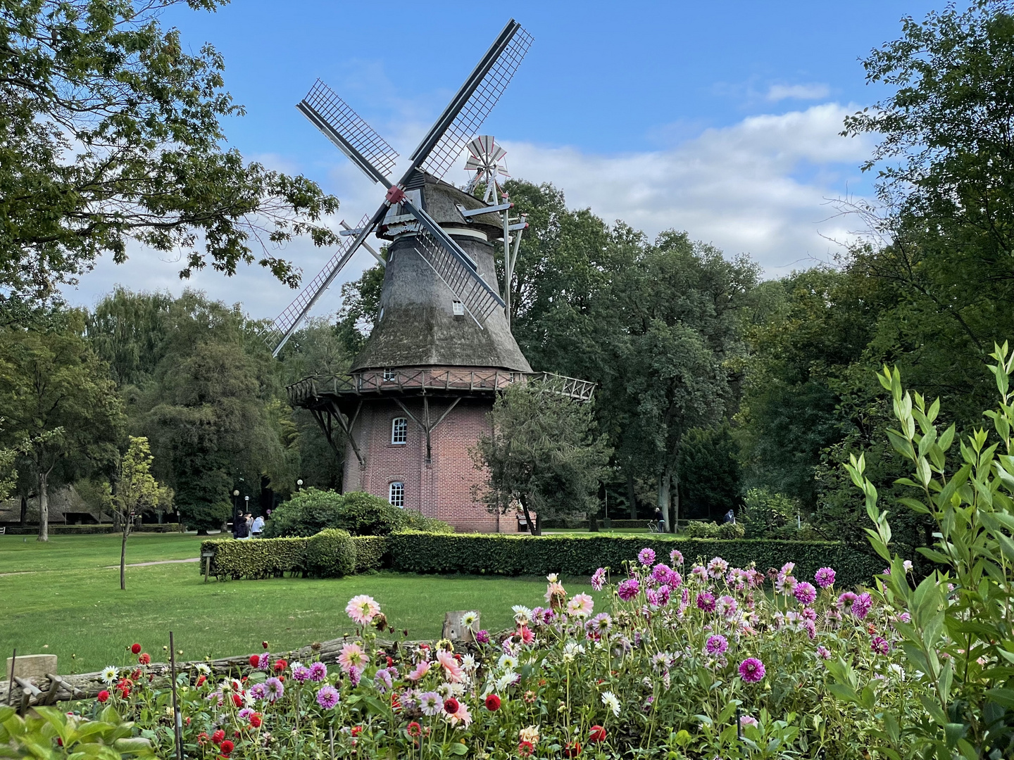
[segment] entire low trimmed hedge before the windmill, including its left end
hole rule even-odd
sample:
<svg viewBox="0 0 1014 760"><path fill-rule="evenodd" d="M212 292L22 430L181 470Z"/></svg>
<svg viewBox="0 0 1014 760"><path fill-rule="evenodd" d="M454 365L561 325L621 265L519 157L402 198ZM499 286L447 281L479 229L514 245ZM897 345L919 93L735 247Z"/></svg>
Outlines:
<svg viewBox="0 0 1014 760"><path fill-rule="evenodd" d="M839 584L869 584L883 562L837 541L682 539L661 536L504 535L404 531L389 536L351 536L324 531L312 538L215 539L201 544L214 551L211 575L220 578L272 578L284 573L319 577L393 567L405 573L542 576L564 573L590 576L596 567L619 572L649 546L659 561L679 549L687 565L697 559L722 556L732 565L750 562L767 571L795 562L795 576L811 579L818 567L830 566ZM350 544L346 540L351 541Z"/></svg>

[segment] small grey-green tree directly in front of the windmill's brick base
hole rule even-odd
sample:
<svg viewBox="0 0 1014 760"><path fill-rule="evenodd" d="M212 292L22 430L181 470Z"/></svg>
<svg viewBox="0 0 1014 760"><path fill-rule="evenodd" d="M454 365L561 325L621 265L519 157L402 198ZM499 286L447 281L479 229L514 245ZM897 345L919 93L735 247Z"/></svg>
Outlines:
<svg viewBox="0 0 1014 760"><path fill-rule="evenodd" d="M472 456L487 470L482 496L491 512L506 513L517 499L538 534L544 519L597 508L610 451L605 437L595 434L591 404L555 392L552 384L517 383L497 398L490 422L492 435L480 438Z"/></svg>

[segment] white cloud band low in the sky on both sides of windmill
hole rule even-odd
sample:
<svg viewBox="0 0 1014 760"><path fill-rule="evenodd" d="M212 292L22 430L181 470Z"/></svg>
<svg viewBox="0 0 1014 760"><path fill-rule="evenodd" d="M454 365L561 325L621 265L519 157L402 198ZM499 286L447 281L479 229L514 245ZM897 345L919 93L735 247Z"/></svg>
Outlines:
<svg viewBox="0 0 1014 760"><path fill-rule="evenodd" d="M838 248L823 236L849 237L847 220L828 219L825 199L846 195L859 182L856 166L870 152L870 141L839 136L842 120L855 106L813 105L781 116L753 116L731 127L709 129L675 148L604 156L573 147L546 147L505 141L511 173L531 181L551 181L562 188L572 208L590 207L612 222L623 219L654 236L663 229L686 230L695 239L714 243L727 254L749 253L770 277L827 260ZM416 124L403 126L405 144L415 144ZM303 139L317 138L308 132ZM372 184L320 138L319 164L301 167L325 181L342 200L338 219L355 225L372 212L382 188ZM397 141L399 145L403 144ZM408 151L403 151L408 153ZM291 170L282 157L261 156L269 165ZM457 169L447 177L464 181ZM336 219L336 223L338 221ZM292 242L282 251L313 277L332 251L308 241ZM354 280L373 262L359 251L321 298L314 314L334 313L341 283ZM241 267L233 278L209 270L189 283L178 280L178 260L152 251L133 250L123 265L108 258L81 280L67 297L91 305L115 284L135 290L185 286L207 291L228 303L240 301L255 317L273 317L295 297L260 267Z"/></svg>

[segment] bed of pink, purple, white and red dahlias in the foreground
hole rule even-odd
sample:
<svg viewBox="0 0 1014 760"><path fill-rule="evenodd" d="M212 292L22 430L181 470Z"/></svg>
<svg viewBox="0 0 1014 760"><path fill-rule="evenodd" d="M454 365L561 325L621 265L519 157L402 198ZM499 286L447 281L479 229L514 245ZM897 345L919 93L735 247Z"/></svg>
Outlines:
<svg viewBox="0 0 1014 760"><path fill-rule="evenodd" d="M872 721L862 705L836 701L831 672L870 705L918 704L894 644L904 615L842 591L841 572L803 580L791 562L768 574L717 556L686 566L678 549L650 546L637 556L615 584L603 567L592 575L612 592L604 609L551 574L545 607L515 606L515 628L476 631L467 651L379 649L378 632L396 621L362 595L346 608L361 635L337 667L287 662L267 642L224 681L198 665L178 680L186 753L851 759L864 757ZM134 650L138 664L110 668L85 711L116 706L169 756L168 695Z"/></svg>

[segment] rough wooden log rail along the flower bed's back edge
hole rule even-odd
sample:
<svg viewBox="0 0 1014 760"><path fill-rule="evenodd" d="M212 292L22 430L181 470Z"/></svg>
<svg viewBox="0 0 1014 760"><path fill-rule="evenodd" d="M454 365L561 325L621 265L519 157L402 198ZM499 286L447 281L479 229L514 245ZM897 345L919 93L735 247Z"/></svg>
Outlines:
<svg viewBox="0 0 1014 760"><path fill-rule="evenodd" d="M507 631L504 632L506 634ZM272 660L284 658L290 663L295 661L309 661L318 659L328 665L338 663L338 656L342 653L342 647L350 640L356 640L355 636L347 635L341 638L332 638L328 641L314 642L307 647L289 652L273 652ZM410 640L410 639L376 639L376 649L383 650L395 660L401 659L402 653L414 650L420 643L433 644L432 640ZM454 642L454 650L459 653L470 653L478 655L476 644L470 641ZM226 678L230 675L240 676L244 668L249 667L250 655L236 657L226 657L218 660L194 660L187 663L176 663L177 673L196 673L198 665L207 665L211 669L210 677ZM137 667L137 666L129 666ZM154 676L153 685L165 686L169 683L168 663L152 663L146 666L147 672ZM124 669L128 669L125 666ZM94 699L102 689L111 688L102 680L99 673L81 673L79 675L58 676L47 673L44 683L34 683L32 680L15 676L11 692L8 691L8 682L0 683L0 704L17 706L22 713L29 707L37 705L54 704L56 702L68 702L75 699Z"/></svg>

